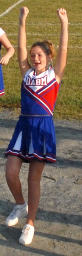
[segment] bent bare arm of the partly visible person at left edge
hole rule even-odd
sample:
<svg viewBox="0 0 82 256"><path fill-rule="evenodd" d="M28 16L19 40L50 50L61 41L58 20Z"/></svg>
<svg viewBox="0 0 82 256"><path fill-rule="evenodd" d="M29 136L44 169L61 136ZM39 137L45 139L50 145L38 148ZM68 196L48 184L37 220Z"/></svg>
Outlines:
<svg viewBox="0 0 82 256"><path fill-rule="evenodd" d="M13 45L9 42L9 39L7 38L6 34L3 33L2 36L0 36L0 42L6 49L6 54L0 59L1 65L7 65L9 62L9 58L11 58L15 52Z"/></svg>

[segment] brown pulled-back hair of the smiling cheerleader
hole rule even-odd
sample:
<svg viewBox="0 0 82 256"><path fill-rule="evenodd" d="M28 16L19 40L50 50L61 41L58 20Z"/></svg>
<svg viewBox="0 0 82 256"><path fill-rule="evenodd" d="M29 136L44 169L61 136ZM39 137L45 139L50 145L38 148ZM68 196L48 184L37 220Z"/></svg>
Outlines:
<svg viewBox="0 0 82 256"><path fill-rule="evenodd" d="M44 40L43 42L40 42L40 41L35 42L31 47L30 54L31 54L32 48L36 46L40 46L41 49L47 54L47 56L51 54L51 58L54 57L55 49L54 49L54 45L50 41Z"/></svg>

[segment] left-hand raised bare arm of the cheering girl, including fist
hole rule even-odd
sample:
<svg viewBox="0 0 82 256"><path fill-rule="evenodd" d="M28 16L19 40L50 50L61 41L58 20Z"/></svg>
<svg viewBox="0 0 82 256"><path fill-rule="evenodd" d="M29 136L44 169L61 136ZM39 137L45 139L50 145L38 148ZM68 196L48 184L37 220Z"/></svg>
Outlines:
<svg viewBox="0 0 82 256"><path fill-rule="evenodd" d="M22 7L19 14L19 32L18 32L18 61L19 68L24 78L25 73L30 68L28 63L28 53L26 49L26 31L25 31L25 20L28 15L28 8Z"/></svg>

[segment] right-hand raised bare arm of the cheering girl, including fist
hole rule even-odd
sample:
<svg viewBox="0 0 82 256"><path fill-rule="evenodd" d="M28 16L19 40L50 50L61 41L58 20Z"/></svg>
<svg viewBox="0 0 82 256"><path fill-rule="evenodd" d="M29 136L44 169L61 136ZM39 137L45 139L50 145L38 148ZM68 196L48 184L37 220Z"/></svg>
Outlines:
<svg viewBox="0 0 82 256"><path fill-rule="evenodd" d="M60 44L57 53L57 61L55 63L55 76L58 83L63 76L66 66L67 45L68 45L68 18L65 9L58 9L57 15L61 22Z"/></svg>

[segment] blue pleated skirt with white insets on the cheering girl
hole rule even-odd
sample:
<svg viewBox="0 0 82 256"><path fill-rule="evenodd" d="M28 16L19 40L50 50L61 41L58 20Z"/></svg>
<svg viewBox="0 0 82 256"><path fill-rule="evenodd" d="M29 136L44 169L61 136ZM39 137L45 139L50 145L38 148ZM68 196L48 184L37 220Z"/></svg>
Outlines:
<svg viewBox="0 0 82 256"><path fill-rule="evenodd" d="M52 116L20 115L5 156L18 156L23 162L32 159L56 162L56 139Z"/></svg>

